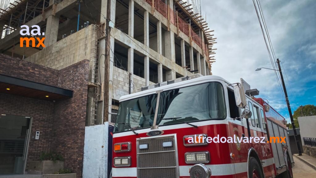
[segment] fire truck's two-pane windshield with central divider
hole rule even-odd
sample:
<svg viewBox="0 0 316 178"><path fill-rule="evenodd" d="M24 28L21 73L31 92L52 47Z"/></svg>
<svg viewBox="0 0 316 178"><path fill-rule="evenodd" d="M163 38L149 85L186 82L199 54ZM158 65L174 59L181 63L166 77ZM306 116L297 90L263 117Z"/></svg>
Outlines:
<svg viewBox="0 0 316 178"><path fill-rule="evenodd" d="M121 102L114 132L129 131L131 128L138 130L152 126L157 96L157 94L153 94ZM219 82L187 86L160 93L156 125L183 124L184 122L225 118L224 90Z"/></svg>

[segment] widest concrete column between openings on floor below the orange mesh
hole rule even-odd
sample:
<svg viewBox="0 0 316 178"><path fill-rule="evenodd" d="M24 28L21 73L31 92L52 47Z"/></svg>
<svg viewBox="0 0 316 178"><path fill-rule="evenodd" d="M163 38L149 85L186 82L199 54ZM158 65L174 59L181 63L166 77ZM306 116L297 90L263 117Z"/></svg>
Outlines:
<svg viewBox="0 0 316 178"><path fill-rule="evenodd" d="M172 31L165 32L165 56L173 62L176 61L174 49L174 33Z"/></svg>

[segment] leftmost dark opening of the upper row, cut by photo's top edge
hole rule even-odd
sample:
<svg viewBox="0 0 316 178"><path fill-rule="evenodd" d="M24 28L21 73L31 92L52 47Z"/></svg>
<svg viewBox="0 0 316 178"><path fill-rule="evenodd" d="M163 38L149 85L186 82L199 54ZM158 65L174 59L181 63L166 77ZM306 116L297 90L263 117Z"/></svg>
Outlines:
<svg viewBox="0 0 316 178"><path fill-rule="evenodd" d="M115 9L115 27L128 34L128 0L117 0Z"/></svg>

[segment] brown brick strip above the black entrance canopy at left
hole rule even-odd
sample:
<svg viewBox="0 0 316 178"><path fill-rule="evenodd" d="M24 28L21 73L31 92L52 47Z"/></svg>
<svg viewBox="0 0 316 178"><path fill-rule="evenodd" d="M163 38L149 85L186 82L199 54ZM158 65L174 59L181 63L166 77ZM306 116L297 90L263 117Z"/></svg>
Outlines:
<svg viewBox="0 0 316 178"><path fill-rule="evenodd" d="M58 85L58 70L12 58L4 54L0 54L0 74L46 85Z"/></svg>

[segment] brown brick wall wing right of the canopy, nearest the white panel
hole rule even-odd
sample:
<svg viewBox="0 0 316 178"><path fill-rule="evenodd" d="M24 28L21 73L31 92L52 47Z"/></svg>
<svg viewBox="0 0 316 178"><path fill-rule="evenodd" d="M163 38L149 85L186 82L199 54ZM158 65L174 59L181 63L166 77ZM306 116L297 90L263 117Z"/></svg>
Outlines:
<svg viewBox="0 0 316 178"><path fill-rule="evenodd" d="M89 60L59 71L58 86L73 90L73 97L57 101L52 129L52 150L62 153L64 167L82 175L84 129L88 97Z"/></svg>

